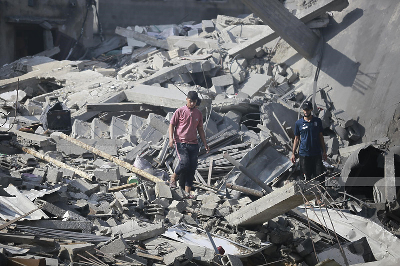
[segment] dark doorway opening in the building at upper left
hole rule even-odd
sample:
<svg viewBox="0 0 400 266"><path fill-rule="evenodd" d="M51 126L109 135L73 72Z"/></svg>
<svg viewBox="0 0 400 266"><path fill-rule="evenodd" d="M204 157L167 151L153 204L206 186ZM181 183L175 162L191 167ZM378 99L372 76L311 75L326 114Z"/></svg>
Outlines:
<svg viewBox="0 0 400 266"><path fill-rule="evenodd" d="M36 24L15 25L14 59L34 55L44 50L43 28Z"/></svg>

